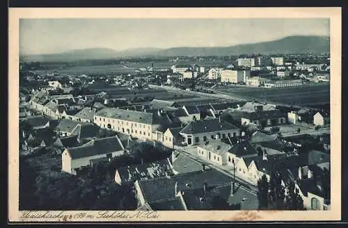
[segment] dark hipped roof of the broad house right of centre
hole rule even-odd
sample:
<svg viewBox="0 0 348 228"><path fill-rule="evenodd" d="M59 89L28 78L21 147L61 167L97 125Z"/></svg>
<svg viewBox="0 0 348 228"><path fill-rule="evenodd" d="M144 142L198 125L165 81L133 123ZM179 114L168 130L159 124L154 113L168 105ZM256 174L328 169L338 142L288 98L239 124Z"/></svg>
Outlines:
<svg viewBox="0 0 348 228"><path fill-rule="evenodd" d="M219 119L196 120L187 124L180 133L196 134L237 129L234 125Z"/></svg>

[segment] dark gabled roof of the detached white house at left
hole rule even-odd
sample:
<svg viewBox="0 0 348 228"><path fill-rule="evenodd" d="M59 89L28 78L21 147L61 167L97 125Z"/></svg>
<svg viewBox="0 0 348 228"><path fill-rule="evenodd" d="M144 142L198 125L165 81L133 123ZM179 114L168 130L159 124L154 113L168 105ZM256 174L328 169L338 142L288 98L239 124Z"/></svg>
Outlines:
<svg viewBox="0 0 348 228"><path fill-rule="evenodd" d="M72 159L86 158L89 156L109 154L111 152L123 151L123 145L117 136L98 138L87 142L80 147L71 147L68 152Z"/></svg>

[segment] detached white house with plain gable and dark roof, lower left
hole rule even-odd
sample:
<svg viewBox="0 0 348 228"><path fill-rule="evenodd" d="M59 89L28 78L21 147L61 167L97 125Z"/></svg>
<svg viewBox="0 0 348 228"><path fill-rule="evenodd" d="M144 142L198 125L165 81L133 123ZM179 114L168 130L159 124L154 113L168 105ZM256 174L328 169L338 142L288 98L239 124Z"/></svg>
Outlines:
<svg viewBox="0 0 348 228"><path fill-rule="evenodd" d="M118 136L93 139L80 147L66 148L61 154L62 170L77 174L81 168L92 165L96 159L111 161L113 157L125 154L125 148Z"/></svg>

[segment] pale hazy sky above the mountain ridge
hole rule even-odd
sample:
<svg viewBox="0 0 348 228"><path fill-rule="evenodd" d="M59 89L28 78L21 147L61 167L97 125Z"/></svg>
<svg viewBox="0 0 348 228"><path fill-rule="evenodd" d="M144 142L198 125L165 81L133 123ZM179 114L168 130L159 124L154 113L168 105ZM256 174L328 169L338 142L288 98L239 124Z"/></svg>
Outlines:
<svg viewBox="0 0 348 228"><path fill-rule="evenodd" d="M226 47L287 35L329 35L329 19L21 19L23 54L93 47Z"/></svg>

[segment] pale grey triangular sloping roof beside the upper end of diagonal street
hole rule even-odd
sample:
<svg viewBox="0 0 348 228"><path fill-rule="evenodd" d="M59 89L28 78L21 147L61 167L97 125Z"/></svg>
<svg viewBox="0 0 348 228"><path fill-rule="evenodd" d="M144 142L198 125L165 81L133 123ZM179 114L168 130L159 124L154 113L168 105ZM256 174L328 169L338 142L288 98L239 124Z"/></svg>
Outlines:
<svg viewBox="0 0 348 228"><path fill-rule="evenodd" d="M198 172L209 169L207 164L200 163L186 154L182 154L176 150L172 152L170 161L175 174Z"/></svg>

